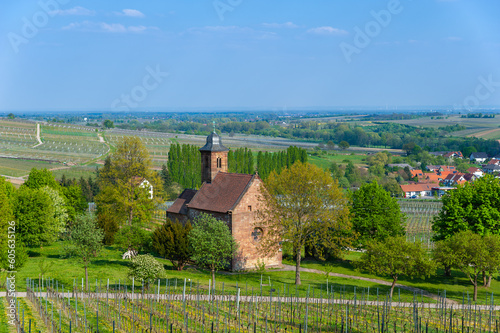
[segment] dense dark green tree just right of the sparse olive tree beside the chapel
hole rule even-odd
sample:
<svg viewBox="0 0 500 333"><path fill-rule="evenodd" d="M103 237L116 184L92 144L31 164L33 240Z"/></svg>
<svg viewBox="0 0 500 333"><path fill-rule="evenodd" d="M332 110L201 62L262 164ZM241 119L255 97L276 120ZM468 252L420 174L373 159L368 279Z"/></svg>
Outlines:
<svg viewBox="0 0 500 333"><path fill-rule="evenodd" d="M352 195L352 224L359 234L359 245L371 240L383 241L389 236L405 234L405 216L396 198L376 181L364 184Z"/></svg>

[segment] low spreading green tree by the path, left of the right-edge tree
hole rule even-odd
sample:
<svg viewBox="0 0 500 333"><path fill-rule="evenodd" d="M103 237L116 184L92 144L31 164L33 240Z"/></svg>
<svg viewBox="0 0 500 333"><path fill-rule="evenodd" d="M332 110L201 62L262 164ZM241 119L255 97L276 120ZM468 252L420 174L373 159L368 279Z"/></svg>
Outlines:
<svg viewBox="0 0 500 333"><path fill-rule="evenodd" d="M404 237L387 237L381 242L370 242L366 252L356 262L358 269L392 278L390 297L399 277L425 278L434 270L434 263L421 243L407 242Z"/></svg>

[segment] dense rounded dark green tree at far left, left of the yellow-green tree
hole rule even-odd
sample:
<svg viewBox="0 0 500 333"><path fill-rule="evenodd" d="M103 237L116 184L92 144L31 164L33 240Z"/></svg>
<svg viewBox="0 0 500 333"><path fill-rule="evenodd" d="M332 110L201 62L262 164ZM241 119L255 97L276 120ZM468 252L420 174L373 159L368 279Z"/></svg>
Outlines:
<svg viewBox="0 0 500 333"><path fill-rule="evenodd" d="M43 189L21 186L14 200L16 237L28 246L43 246L57 240L60 225L50 196Z"/></svg>

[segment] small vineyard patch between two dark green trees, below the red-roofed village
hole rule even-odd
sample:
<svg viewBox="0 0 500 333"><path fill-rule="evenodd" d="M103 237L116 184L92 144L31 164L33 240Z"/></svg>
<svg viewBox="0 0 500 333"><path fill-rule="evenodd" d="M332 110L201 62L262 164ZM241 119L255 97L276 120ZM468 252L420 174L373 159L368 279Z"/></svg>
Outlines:
<svg viewBox="0 0 500 333"><path fill-rule="evenodd" d="M432 220L441 211L442 203L431 200L399 200L401 212L407 217L406 237L432 247Z"/></svg>

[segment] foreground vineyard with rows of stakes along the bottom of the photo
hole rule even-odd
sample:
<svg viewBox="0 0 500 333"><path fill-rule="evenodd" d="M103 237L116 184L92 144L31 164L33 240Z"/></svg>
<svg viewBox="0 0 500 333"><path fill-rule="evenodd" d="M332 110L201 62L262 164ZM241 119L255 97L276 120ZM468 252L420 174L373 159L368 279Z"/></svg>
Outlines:
<svg viewBox="0 0 500 333"><path fill-rule="evenodd" d="M370 288L345 286L200 285L177 279L149 286L96 281L84 292L75 281L27 280L16 298L18 332L498 332L499 307L446 292L428 302L421 294L401 300ZM132 288L132 286L134 286ZM2 321L0 320L0 323Z"/></svg>

